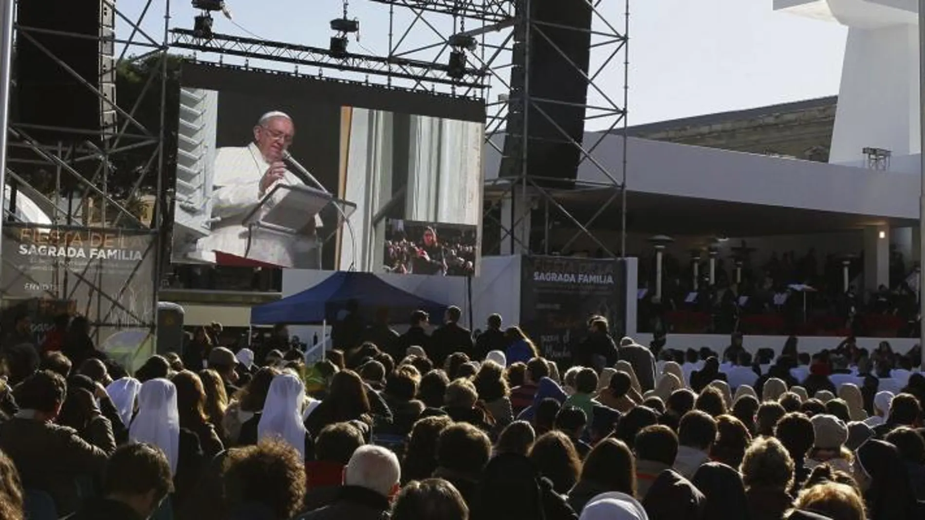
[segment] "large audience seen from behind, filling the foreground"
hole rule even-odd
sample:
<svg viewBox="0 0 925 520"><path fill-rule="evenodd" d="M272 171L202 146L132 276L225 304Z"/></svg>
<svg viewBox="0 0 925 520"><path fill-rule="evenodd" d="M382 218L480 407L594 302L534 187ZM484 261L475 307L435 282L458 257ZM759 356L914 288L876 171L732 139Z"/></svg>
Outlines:
<svg viewBox="0 0 925 520"><path fill-rule="evenodd" d="M0 517L925 517L918 347L672 350L591 316L557 365L499 315L471 332L461 314L415 311L399 334L349 313L310 366L285 326L229 348L213 324L134 373L80 317L36 345L18 315Z"/></svg>

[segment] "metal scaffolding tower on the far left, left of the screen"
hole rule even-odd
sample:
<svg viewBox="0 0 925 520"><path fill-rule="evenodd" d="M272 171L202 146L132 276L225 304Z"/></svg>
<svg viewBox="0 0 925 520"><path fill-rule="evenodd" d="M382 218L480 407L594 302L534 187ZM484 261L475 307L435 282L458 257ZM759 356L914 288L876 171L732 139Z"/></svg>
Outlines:
<svg viewBox="0 0 925 520"><path fill-rule="evenodd" d="M56 236L53 245L60 248L78 248L75 240L101 240L95 244L97 254L105 247L129 248L130 242L137 251L127 253L122 260L136 254L140 258L129 260L126 265L131 267L114 275L103 267L113 257L78 261L59 250L60 258L48 266L52 273L35 280L5 248L2 260L7 275L0 296L7 305L15 303L21 298L19 284L24 283L40 307L50 306L56 313L67 309L87 317L97 345L106 334L125 329L136 332L134 341L153 345L158 281L169 259L165 224L170 220L172 161L166 145L171 136L166 134L165 122L168 104L173 101L168 93L170 0L144 0L143 5L131 7L141 8L129 15L115 0L104 0L102 7L111 10L117 24L126 28L127 37L117 37L115 30L103 30L98 37L47 30L21 25L19 20L13 33L18 44L31 42L81 88L92 92L102 109L114 113L115 118L111 126L95 128L36 126L10 120L6 127L5 236L10 228L28 229L35 236L40 232ZM161 34L143 29L145 21L155 17L163 17ZM116 69L111 71L115 72L115 83L126 88L113 99L111 93L82 78L43 45L43 35L97 40L101 54L115 58ZM48 135L59 138L49 142ZM27 204L41 218L24 218ZM106 240L117 242L109 244ZM93 248L94 244L84 246Z"/></svg>

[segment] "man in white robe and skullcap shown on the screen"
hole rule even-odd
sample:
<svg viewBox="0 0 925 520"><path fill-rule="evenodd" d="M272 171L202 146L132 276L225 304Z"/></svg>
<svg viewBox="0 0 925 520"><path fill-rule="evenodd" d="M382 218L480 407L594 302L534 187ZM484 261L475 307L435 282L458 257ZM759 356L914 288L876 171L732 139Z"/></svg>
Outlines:
<svg viewBox="0 0 925 520"><path fill-rule="evenodd" d="M265 230L253 235L242 221L277 184L301 184L283 162L295 138L295 124L285 113L262 115L253 127L253 142L244 147L216 151L212 184L212 233L203 237L197 249L203 260L241 264L258 262L279 267L320 268L320 249L314 238L292 240ZM305 235L314 236L320 219L306 218ZM250 244L249 244L250 242ZM224 257L216 259L216 253Z"/></svg>

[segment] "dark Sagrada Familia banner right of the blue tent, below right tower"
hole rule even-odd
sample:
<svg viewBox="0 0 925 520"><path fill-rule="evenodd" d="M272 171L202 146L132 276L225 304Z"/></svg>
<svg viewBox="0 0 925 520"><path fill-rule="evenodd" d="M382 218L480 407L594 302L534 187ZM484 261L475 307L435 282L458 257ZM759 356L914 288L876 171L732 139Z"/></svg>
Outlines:
<svg viewBox="0 0 925 520"><path fill-rule="evenodd" d="M523 258L520 326L543 357L568 364L593 314L607 318L619 339L625 330L626 269L621 260Z"/></svg>

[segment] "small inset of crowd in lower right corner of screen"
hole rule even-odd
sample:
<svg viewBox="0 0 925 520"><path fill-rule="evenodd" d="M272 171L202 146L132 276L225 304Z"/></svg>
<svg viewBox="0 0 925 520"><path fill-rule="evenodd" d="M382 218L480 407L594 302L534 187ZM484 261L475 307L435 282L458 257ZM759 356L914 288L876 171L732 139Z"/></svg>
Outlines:
<svg viewBox="0 0 925 520"><path fill-rule="evenodd" d="M474 276L477 236L475 226L387 221L385 271Z"/></svg>

